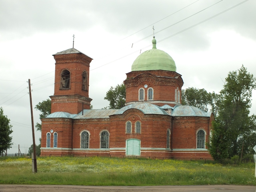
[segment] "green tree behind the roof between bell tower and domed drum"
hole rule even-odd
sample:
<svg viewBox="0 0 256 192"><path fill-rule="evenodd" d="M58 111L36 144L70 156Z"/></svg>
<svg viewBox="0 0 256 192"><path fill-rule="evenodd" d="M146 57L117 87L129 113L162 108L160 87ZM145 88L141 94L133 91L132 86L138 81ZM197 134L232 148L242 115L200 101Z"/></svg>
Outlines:
<svg viewBox="0 0 256 192"><path fill-rule="evenodd" d="M125 105L126 88L124 83L118 84L115 88L110 87L104 99L109 101L109 109L120 109Z"/></svg>

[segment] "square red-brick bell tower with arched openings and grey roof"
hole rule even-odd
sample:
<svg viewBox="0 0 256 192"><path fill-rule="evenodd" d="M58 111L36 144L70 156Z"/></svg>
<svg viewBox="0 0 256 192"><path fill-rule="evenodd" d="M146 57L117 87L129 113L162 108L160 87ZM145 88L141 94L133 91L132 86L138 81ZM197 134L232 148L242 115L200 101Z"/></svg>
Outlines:
<svg viewBox="0 0 256 192"><path fill-rule="evenodd" d="M78 114L90 109L89 71L92 58L70 48L53 54L55 63L54 95L52 111Z"/></svg>

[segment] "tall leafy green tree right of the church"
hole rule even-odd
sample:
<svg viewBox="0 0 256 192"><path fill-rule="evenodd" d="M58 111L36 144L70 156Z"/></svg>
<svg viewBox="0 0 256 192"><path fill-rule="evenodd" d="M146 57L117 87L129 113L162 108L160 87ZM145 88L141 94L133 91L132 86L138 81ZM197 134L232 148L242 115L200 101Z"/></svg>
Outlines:
<svg viewBox="0 0 256 192"><path fill-rule="evenodd" d="M228 73L224 88L220 91L218 115L213 124L214 132L209 151L215 160L252 151L252 138L255 136L255 116L249 116L252 90L256 79L242 66ZM249 137L249 138L248 138Z"/></svg>

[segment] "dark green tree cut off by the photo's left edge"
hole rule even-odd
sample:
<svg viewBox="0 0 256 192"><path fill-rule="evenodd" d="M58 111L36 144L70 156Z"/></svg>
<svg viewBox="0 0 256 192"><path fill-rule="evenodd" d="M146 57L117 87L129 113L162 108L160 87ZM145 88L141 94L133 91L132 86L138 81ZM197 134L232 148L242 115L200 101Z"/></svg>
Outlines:
<svg viewBox="0 0 256 192"><path fill-rule="evenodd" d="M0 154L10 149L12 146L12 125L10 125L10 119L4 115L4 110L0 107Z"/></svg>

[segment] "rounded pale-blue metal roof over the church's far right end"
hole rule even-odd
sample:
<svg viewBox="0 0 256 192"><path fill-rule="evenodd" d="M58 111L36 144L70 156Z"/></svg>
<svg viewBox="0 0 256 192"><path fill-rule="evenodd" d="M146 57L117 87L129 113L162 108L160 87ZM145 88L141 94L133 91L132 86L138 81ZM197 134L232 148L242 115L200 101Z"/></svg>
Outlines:
<svg viewBox="0 0 256 192"><path fill-rule="evenodd" d="M199 117L210 117L211 113L205 112L199 108L194 106L182 105L182 106L175 106L174 110L172 111L172 116L199 116Z"/></svg>

